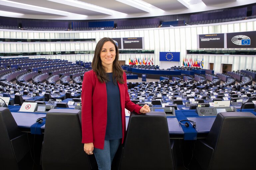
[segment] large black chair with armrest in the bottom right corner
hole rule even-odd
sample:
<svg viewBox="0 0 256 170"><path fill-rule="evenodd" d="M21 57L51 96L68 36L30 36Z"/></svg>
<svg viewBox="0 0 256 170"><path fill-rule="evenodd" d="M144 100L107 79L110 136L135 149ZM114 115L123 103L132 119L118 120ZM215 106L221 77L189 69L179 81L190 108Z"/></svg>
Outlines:
<svg viewBox="0 0 256 170"><path fill-rule="evenodd" d="M249 112L219 113L195 158L202 169L255 169L256 116Z"/></svg>

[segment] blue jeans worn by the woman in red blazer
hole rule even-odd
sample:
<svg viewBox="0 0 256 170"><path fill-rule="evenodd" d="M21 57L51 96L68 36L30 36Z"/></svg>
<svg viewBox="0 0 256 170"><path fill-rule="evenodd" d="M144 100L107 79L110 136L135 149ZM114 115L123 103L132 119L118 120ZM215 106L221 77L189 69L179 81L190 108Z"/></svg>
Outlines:
<svg viewBox="0 0 256 170"><path fill-rule="evenodd" d="M111 164L120 143L121 139L105 140L104 149L94 148L99 170L111 170Z"/></svg>

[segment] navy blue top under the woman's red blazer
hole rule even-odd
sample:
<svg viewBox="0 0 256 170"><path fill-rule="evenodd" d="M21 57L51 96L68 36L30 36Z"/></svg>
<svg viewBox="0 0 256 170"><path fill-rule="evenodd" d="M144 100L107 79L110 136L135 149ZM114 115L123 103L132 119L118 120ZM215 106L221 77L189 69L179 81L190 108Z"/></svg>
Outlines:
<svg viewBox="0 0 256 170"><path fill-rule="evenodd" d="M121 104L119 87L113 81L113 73L107 73L109 80L106 83L107 88L107 128L105 140L120 139L123 137Z"/></svg>

